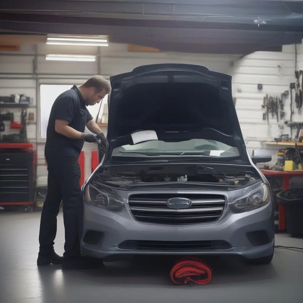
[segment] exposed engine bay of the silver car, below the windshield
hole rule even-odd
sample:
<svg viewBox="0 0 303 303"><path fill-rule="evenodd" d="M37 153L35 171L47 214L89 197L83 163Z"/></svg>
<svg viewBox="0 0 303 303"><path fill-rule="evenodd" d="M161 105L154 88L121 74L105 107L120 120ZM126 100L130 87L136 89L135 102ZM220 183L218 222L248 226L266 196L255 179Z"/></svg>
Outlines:
<svg viewBox="0 0 303 303"><path fill-rule="evenodd" d="M100 167L94 176L96 182L114 187L128 187L148 183L193 182L243 186L260 177L253 168L224 166L204 167L201 165L114 165Z"/></svg>

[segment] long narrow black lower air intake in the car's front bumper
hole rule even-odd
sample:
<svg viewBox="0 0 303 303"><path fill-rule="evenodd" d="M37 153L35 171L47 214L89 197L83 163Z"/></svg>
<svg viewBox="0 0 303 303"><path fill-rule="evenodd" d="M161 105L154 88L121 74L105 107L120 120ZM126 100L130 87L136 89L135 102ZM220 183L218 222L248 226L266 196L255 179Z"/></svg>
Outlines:
<svg viewBox="0 0 303 303"><path fill-rule="evenodd" d="M127 240L118 245L120 249L136 251L209 251L230 249L226 241L135 241Z"/></svg>

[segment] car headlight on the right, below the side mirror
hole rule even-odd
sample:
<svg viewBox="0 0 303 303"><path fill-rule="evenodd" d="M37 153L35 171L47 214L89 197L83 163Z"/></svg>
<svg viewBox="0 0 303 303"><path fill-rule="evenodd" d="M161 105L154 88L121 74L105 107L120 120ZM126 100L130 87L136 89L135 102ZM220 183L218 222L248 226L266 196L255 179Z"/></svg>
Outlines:
<svg viewBox="0 0 303 303"><path fill-rule="evenodd" d="M260 208L270 202L269 188L266 184L248 192L246 195L233 200L230 204L235 213L245 212Z"/></svg>

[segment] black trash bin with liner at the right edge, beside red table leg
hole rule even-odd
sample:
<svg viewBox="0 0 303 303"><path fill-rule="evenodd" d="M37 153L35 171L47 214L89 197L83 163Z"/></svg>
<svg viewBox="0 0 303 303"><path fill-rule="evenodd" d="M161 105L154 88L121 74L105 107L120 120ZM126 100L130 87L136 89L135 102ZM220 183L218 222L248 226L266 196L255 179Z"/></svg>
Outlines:
<svg viewBox="0 0 303 303"><path fill-rule="evenodd" d="M303 188L281 191L277 194L277 202L285 205L287 233L303 235Z"/></svg>

